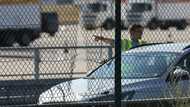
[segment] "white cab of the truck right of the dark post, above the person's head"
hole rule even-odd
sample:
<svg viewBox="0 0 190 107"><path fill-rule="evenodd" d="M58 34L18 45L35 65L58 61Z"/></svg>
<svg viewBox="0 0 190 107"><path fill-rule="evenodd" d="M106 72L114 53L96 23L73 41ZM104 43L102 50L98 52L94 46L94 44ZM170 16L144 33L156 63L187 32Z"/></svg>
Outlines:
<svg viewBox="0 0 190 107"><path fill-rule="evenodd" d="M147 26L156 15L154 0L129 0L126 19L127 25L140 24Z"/></svg>

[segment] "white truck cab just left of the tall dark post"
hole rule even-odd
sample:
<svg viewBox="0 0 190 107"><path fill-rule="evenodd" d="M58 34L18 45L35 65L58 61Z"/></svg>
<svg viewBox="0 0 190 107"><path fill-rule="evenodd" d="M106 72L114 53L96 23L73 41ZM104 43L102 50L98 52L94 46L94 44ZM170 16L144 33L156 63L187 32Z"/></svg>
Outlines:
<svg viewBox="0 0 190 107"><path fill-rule="evenodd" d="M108 1L86 3L82 6L82 26L87 30L98 27L112 29L114 27L112 10L112 5Z"/></svg>

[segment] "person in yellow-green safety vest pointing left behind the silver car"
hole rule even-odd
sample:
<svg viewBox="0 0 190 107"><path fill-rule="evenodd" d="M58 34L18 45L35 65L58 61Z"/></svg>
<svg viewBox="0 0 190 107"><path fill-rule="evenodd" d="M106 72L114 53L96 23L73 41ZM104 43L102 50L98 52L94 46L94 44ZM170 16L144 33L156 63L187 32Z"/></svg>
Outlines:
<svg viewBox="0 0 190 107"><path fill-rule="evenodd" d="M141 44L145 44L145 41L142 41L142 35L143 35L144 27L141 25L134 24L129 29L130 32L130 39L122 39L121 40L121 50L127 51L130 48L137 47ZM114 39L112 38L105 38L102 36L94 36L95 41L103 41L105 43L109 43L112 46L114 46Z"/></svg>

